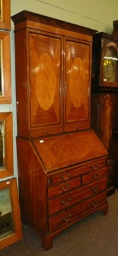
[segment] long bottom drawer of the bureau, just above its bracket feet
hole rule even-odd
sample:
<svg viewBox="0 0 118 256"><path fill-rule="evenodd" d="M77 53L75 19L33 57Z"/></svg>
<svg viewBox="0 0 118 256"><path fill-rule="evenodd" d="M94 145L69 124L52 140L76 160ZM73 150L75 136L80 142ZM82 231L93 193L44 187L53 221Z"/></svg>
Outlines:
<svg viewBox="0 0 118 256"><path fill-rule="evenodd" d="M80 204L77 204L66 211L60 212L55 216L49 218L49 231L52 232L57 228L61 228L67 223L79 218L85 213L99 207L102 204L107 202L107 195L105 192L100 193L99 195L92 196L89 200L84 200Z"/></svg>

